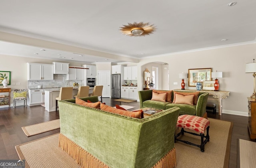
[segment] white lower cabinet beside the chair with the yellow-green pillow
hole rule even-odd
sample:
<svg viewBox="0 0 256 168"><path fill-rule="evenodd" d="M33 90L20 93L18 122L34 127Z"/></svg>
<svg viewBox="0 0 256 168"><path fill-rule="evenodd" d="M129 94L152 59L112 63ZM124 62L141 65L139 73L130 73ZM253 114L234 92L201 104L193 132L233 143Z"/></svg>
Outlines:
<svg viewBox="0 0 256 168"><path fill-rule="evenodd" d="M38 105L44 103L44 89L28 90L28 105Z"/></svg>

